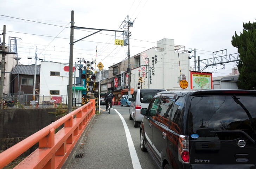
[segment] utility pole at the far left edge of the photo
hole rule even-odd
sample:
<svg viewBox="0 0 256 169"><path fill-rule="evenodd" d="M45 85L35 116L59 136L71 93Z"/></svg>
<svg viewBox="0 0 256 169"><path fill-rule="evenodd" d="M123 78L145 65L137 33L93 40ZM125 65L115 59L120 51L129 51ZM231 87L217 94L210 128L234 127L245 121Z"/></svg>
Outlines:
<svg viewBox="0 0 256 169"><path fill-rule="evenodd" d="M5 33L6 26L4 25L3 42L2 42L2 60L1 60L1 82L0 82L0 109L3 109L4 100L4 79L5 79Z"/></svg>

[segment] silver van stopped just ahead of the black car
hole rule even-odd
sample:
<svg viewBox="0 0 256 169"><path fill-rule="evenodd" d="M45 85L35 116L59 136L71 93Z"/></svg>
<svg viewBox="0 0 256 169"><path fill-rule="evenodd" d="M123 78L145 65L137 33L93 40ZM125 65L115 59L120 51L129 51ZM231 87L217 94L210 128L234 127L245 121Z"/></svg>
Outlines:
<svg viewBox="0 0 256 169"><path fill-rule="evenodd" d="M133 120L133 126L138 127L142 121L143 115L140 114L141 108L148 107L149 102L158 92L166 91L166 89L136 89L132 94L130 102L130 120Z"/></svg>

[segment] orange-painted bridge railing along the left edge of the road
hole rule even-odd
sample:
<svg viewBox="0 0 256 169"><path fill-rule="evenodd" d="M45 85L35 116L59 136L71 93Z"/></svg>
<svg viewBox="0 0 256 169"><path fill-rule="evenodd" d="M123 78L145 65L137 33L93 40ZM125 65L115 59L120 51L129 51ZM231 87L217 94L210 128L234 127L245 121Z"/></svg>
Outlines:
<svg viewBox="0 0 256 169"><path fill-rule="evenodd" d="M61 168L94 115L95 99L90 99L89 103L0 153L0 168L11 163L36 143L39 143L39 147L15 168ZM55 129L62 124L64 127L55 133Z"/></svg>

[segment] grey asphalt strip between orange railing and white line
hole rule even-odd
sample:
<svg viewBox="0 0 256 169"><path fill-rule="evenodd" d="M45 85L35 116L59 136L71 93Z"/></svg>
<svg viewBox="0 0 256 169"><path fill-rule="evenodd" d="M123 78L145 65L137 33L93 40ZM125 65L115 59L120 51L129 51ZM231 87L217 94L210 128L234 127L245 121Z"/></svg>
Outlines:
<svg viewBox="0 0 256 169"><path fill-rule="evenodd" d="M124 127L115 110L108 114L101 109L101 114L95 115L76 154L83 157L75 158L70 169L133 168Z"/></svg>

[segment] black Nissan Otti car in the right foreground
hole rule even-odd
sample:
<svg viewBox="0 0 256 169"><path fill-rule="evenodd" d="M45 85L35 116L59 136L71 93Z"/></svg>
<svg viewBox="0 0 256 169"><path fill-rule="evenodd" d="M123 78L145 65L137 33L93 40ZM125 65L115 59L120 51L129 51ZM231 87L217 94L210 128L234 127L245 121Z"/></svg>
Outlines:
<svg viewBox="0 0 256 169"><path fill-rule="evenodd" d="M142 108L140 148L159 168L255 168L256 90L172 90Z"/></svg>

